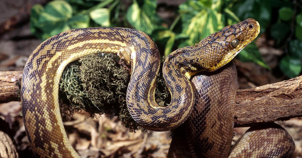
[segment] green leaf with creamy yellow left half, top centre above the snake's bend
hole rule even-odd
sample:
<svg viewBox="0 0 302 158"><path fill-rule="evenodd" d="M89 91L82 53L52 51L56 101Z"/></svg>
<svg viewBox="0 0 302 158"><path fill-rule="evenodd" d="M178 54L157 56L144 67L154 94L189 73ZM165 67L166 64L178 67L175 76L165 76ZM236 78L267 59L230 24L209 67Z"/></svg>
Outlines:
<svg viewBox="0 0 302 158"><path fill-rule="evenodd" d="M130 5L126 12L127 21L135 29L151 34L152 31L160 26L161 19L156 14L156 0L141 1L140 6L136 0Z"/></svg>

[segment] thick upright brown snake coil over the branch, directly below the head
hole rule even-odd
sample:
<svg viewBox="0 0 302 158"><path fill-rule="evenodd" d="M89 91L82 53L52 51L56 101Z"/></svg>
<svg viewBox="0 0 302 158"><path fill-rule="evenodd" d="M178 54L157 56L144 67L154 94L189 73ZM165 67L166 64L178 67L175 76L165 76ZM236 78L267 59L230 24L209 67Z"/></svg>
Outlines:
<svg viewBox="0 0 302 158"><path fill-rule="evenodd" d="M192 78L195 106L186 121L193 157L226 157L233 138L237 71L233 62ZM210 120L210 121L209 121ZM191 130L190 130L191 129Z"/></svg>

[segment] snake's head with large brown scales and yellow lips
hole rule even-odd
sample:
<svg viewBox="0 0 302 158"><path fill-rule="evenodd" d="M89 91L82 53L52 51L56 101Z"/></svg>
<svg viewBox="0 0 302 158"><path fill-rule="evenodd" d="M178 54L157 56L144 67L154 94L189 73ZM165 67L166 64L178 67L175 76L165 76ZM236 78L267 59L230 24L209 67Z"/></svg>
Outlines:
<svg viewBox="0 0 302 158"><path fill-rule="evenodd" d="M206 71L215 71L230 62L244 47L251 43L259 34L260 25L255 19L249 18L238 24L224 27L201 40L198 45L206 48L214 58L207 59L203 67Z"/></svg>

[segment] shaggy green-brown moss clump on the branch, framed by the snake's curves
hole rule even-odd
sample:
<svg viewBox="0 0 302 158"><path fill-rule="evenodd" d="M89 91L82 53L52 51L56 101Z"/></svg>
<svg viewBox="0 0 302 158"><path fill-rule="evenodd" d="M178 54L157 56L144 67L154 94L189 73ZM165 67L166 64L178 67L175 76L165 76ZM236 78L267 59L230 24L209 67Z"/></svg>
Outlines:
<svg viewBox="0 0 302 158"><path fill-rule="evenodd" d="M143 130L128 111L126 91L130 74L118 61L115 54L98 53L66 66L59 85L63 119L69 119L71 114L81 109L92 116L95 113L114 113L130 131ZM171 99L162 73L158 77L156 101L164 106Z"/></svg>

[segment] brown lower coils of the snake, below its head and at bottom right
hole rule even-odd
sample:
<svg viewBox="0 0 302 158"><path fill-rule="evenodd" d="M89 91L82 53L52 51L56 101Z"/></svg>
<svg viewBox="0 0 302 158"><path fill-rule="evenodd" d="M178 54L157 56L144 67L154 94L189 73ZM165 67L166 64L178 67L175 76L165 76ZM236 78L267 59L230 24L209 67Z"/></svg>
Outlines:
<svg viewBox="0 0 302 158"><path fill-rule="evenodd" d="M251 127L230 150L238 88L233 62L214 72L199 73L191 81L196 87L195 105L185 122L186 130L175 131L168 157L291 157L294 141L275 123ZM186 137L181 135L185 131Z"/></svg>

